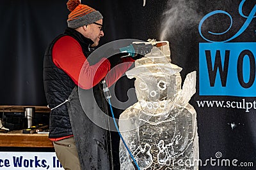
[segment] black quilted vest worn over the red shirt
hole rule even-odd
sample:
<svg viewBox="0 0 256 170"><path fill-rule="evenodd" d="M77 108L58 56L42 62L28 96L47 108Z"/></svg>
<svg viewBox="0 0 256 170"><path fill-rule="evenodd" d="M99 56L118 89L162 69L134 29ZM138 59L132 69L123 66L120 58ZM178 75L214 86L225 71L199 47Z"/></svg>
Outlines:
<svg viewBox="0 0 256 170"><path fill-rule="evenodd" d="M74 81L52 62L52 47L63 36L75 38L82 47L84 55L90 54L90 45L93 41L77 32L74 29L67 28L64 34L55 38L47 47L44 55L44 90L47 103L50 108L55 108L68 99L72 90L76 86ZM68 116L67 103L51 110L49 124L49 138L61 138L72 135L72 127Z"/></svg>

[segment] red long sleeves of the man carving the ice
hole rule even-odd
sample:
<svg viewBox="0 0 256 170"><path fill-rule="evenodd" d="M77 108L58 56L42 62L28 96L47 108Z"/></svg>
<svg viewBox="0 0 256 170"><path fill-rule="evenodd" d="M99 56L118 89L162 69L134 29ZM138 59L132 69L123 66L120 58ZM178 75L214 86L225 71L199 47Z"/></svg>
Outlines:
<svg viewBox="0 0 256 170"><path fill-rule="evenodd" d="M131 57L122 58L123 63L110 71L109 60L102 58L91 66L78 41L71 36L63 36L56 41L52 48L52 61L82 89L91 89L105 77L108 86L113 85L134 62Z"/></svg>

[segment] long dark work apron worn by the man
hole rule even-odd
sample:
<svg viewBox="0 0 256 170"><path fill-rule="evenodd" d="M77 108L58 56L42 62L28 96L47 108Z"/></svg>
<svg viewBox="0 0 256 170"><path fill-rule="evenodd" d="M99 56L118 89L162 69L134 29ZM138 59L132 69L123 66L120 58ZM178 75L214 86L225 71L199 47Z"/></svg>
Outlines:
<svg viewBox="0 0 256 170"><path fill-rule="evenodd" d="M109 129L109 120L103 113L108 112L108 103L102 96L100 85L93 90L76 86L69 99L68 114L81 169L113 169L111 136L106 130Z"/></svg>

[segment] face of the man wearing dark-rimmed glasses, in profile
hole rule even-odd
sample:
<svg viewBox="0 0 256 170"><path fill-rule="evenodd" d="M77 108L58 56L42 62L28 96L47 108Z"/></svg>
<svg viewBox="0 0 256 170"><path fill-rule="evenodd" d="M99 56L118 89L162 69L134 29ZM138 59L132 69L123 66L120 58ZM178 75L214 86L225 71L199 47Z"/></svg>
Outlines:
<svg viewBox="0 0 256 170"><path fill-rule="evenodd" d="M93 46L99 45L100 37L104 36L104 32L102 31L102 19L95 22L95 24L89 24L88 26L88 36L87 38L92 39L94 42Z"/></svg>

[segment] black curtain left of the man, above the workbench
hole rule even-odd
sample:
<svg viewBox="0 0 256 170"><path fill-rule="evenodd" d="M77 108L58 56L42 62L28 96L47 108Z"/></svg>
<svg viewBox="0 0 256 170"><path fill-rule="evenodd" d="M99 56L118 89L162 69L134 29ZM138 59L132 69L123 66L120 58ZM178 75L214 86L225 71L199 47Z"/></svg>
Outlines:
<svg viewBox="0 0 256 170"><path fill-rule="evenodd" d="M3 105L47 105L42 67L44 50L51 39L64 31L63 1L3 1L0 75Z"/></svg>

